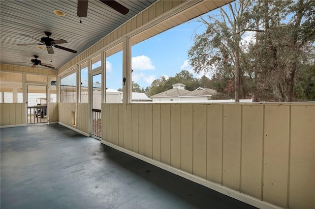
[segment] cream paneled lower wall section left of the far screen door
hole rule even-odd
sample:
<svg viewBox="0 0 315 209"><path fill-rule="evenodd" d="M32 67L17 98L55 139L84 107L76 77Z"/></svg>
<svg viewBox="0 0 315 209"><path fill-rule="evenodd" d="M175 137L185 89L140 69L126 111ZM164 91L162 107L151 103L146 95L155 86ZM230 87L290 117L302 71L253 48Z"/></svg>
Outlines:
<svg viewBox="0 0 315 209"><path fill-rule="evenodd" d="M26 125L24 103L0 103L0 126Z"/></svg>

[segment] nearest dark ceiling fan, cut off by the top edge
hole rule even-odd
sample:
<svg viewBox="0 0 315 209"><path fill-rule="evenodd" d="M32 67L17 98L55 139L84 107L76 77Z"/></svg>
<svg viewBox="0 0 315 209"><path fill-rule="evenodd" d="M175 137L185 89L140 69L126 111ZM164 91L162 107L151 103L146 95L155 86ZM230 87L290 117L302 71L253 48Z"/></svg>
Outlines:
<svg viewBox="0 0 315 209"><path fill-rule="evenodd" d="M115 9L116 11L126 15L129 12L129 9L126 8L124 5L118 3L115 0L99 0L102 3L106 4L107 6ZM88 0L78 0L78 17L86 17L88 16Z"/></svg>

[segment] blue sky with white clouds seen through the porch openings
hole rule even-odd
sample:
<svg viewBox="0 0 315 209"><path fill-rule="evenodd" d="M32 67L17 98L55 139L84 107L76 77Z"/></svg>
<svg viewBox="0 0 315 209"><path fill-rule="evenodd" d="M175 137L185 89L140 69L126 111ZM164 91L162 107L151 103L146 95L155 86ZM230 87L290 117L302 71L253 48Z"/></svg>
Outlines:
<svg viewBox="0 0 315 209"><path fill-rule="evenodd" d="M215 10L211 13L218 14L218 11ZM197 78L203 76L195 74L188 64L188 50L193 44L193 38L196 33L200 34L205 30L205 26L198 23L197 19L173 27L132 46L132 80L140 87L146 88L160 76L173 77L182 70L188 70ZM123 53L118 52L106 58L107 88L117 90L123 87L122 56ZM206 76L210 78L210 75Z"/></svg>

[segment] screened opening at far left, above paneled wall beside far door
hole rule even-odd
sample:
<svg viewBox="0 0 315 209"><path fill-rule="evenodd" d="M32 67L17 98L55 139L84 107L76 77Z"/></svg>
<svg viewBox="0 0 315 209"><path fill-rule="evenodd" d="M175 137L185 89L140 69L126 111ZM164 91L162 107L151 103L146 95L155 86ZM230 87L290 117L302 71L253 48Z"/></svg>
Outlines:
<svg viewBox="0 0 315 209"><path fill-rule="evenodd" d="M0 103L23 103L23 76L0 72Z"/></svg>

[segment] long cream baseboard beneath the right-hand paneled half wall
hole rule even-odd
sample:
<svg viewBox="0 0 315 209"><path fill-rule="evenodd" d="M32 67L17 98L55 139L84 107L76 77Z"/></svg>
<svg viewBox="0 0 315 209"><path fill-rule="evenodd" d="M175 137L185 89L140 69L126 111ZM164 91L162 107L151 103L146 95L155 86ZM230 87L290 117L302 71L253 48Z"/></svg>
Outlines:
<svg viewBox="0 0 315 209"><path fill-rule="evenodd" d="M105 144L105 145L107 145L109 147L112 147L112 148L114 148L114 149L116 149L118 151L126 153L126 154L128 154L128 155L130 155L132 157L136 157L138 159L141 159L141 160L143 160L145 162L148 162L148 163L150 163L152 165L155 165L155 166L157 166L157 167L159 167L161 169L164 169L164 170L169 171L169 172L171 172L173 174L181 176L181 177L183 177L185 179L188 179L188 180L190 180L192 182L195 182L195 183L201 184L203 186L206 186L206 187L208 187L210 189L213 189L213 190L215 190L217 192L220 192L221 194L227 195L227 196L232 197L232 198L234 198L236 200L239 200L239 201L242 201L242 202L247 203L249 205L252 205L252 206L254 206L256 208L259 208L259 209L282 209L279 206L267 203L265 201L261 201L259 199L256 199L256 198L250 196L250 195L247 195L247 194L241 193L239 191L230 189L230 188L228 188L226 186L222 186L221 184L209 182L209 181L207 181L205 179L202 179L200 177L194 176L194 175L192 175L192 174L190 174L188 172L185 172L185 171L179 170L177 168L171 167L171 166L169 166L167 164L164 164L164 163L159 162L157 160L151 159L149 157L145 157L145 156L139 155L137 153L131 152L130 150L127 150L125 148L119 147L119 146L114 145L112 143L109 143L107 141L101 140L100 142L102 144Z"/></svg>

